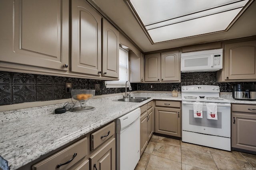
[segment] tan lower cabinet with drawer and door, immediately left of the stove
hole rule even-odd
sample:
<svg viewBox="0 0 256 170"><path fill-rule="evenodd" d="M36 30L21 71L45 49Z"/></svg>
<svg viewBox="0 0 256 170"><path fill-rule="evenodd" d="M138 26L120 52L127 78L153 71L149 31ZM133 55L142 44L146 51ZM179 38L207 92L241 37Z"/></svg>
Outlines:
<svg viewBox="0 0 256 170"><path fill-rule="evenodd" d="M180 102L164 100L156 101L155 132L181 137Z"/></svg>

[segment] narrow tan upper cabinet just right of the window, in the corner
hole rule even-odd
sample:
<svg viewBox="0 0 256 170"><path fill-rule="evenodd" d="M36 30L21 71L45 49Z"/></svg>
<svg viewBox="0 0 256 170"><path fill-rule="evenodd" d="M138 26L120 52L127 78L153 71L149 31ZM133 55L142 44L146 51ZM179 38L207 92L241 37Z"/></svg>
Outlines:
<svg viewBox="0 0 256 170"><path fill-rule="evenodd" d="M144 54L138 57L135 53L129 52L130 59L130 82L144 82Z"/></svg>

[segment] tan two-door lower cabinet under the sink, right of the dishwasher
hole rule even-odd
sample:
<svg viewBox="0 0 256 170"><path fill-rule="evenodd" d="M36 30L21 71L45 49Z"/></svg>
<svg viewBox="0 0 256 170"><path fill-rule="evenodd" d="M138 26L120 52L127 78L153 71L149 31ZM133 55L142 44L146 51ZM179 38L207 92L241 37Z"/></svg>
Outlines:
<svg viewBox="0 0 256 170"><path fill-rule="evenodd" d="M153 102L148 102L140 107L140 156L148 145L153 134L154 113Z"/></svg>

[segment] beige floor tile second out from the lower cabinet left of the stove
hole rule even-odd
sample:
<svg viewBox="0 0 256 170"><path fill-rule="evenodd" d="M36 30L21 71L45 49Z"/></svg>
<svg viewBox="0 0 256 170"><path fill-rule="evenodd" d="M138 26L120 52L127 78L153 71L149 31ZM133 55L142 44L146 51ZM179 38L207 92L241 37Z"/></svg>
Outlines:
<svg viewBox="0 0 256 170"><path fill-rule="evenodd" d="M174 145L157 142L152 154L176 162L181 162L180 147Z"/></svg>

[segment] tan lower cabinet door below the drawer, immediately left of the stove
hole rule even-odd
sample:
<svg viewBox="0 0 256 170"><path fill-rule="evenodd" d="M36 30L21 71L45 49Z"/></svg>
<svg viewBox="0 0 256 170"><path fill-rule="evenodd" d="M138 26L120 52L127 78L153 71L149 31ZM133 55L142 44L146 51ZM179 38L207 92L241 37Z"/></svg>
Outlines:
<svg viewBox="0 0 256 170"><path fill-rule="evenodd" d="M155 132L181 137L180 109L155 107Z"/></svg>

